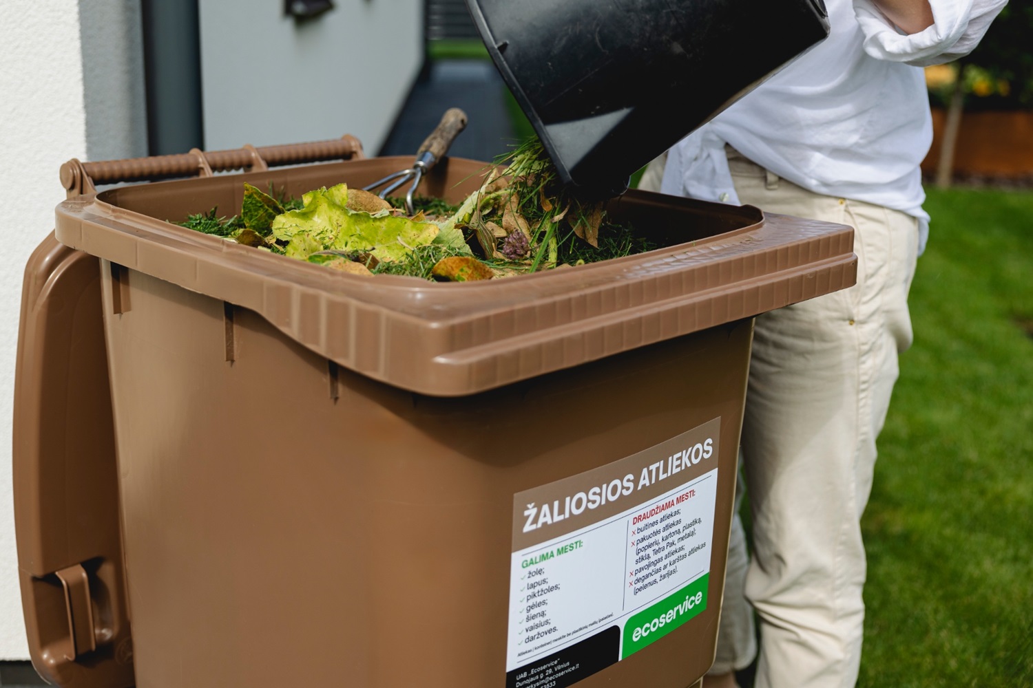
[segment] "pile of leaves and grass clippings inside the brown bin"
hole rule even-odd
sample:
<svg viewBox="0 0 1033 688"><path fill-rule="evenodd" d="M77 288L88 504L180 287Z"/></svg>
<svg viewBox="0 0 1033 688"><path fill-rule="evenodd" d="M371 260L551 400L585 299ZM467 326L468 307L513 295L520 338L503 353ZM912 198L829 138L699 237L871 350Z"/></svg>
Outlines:
<svg viewBox="0 0 1033 688"><path fill-rule="evenodd" d="M407 216L388 200L339 184L276 198L244 185L241 212L189 216L184 227L353 274L472 282L596 262L656 248L608 221L605 202L563 187L532 141L486 169L459 206L416 199Z"/></svg>

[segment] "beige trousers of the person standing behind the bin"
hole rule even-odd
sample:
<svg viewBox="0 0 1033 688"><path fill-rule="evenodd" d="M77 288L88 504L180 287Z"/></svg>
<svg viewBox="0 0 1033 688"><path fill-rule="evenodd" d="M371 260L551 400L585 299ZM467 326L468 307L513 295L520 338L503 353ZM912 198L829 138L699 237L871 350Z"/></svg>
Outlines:
<svg viewBox="0 0 1033 688"><path fill-rule="evenodd" d="M912 340L917 221L809 192L730 149L728 162L743 203L852 226L858 265L856 286L756 320L742 438L754 551L737 516L711 673L752 661L752 607L756 688L848 688L865 618L860 516L898 353Z"/></svg>

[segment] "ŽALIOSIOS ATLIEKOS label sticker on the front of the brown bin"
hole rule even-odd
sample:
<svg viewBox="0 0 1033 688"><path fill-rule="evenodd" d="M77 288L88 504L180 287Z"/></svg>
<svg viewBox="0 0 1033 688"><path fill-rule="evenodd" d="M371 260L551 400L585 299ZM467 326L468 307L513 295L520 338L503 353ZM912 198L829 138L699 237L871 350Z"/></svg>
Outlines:
<svg viewBox="0 0 1033 688"><path fill-rule="evenodd" d="M706 609L719 430L515 495L507 686L569 686Z"/></svg>

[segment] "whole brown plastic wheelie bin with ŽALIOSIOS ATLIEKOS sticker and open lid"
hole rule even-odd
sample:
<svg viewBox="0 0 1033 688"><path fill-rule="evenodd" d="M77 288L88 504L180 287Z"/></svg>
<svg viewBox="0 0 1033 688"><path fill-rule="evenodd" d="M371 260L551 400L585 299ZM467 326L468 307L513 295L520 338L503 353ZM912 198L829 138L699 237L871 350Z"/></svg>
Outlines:
<svg viewBox="0 0 1033 688"><path fill-rule="evenodd" d="M231 214L245 181L300 195L409 162L345 143L64 168L19 343L35 666L75 688L693 684L752 319L853 284L852 230L631 191L612 211L666 248L431 284L169 223ZM482 167L445 159L422 193Z"/></svg>

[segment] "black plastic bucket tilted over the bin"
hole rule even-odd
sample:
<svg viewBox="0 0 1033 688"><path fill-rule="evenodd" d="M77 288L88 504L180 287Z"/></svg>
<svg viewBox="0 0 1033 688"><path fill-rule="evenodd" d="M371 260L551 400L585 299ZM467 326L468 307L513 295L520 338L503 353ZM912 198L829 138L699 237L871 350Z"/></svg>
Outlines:
<svg viewBox="0 0 1033 688"><path fill-rule="evenodd" d="M467 0L566 183L628 176L828 35L822 0Z"/></svg>

